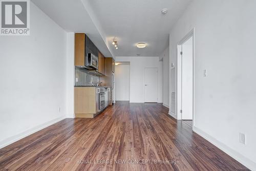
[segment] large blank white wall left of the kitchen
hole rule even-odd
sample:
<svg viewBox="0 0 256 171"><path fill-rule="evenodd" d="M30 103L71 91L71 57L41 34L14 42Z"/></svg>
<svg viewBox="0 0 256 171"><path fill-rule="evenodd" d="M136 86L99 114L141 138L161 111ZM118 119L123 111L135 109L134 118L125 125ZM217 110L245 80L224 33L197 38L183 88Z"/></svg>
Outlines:
<svg viewBox="0 0 256 171"><path fill-rule="evenodd" d="M30 36L0 38L0 147L66 117L67 34L30 8Z"/></svg>

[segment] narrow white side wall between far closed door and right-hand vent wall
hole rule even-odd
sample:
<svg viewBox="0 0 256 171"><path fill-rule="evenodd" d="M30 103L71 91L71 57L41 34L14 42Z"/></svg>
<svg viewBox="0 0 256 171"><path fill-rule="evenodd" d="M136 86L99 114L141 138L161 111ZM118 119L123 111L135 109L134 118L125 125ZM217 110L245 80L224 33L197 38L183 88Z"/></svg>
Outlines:
<svg viewBox="0 0 256 171"><path fill-rule="evenodd" d="M159 56L163 58L163 105L169 108L169 47Z"/></svg>

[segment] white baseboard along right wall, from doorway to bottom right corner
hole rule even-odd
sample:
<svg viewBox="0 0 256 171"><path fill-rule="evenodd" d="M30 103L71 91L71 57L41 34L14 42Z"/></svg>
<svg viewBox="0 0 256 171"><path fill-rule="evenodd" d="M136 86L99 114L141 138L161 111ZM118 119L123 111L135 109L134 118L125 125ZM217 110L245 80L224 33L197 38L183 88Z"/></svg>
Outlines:
<svg viewBox="0 0 256 171"><path fill-rule="evenodd" d="M218 141L214 137L208 135L204 131L200 130L198 127L194 126L194 132L199 134L201 137L209 141L210 143L214 144L218 148L220 148L223 152L225 152L227 155L232 157L233 159L237 160L238 162L242 163L246 167L248 167L251 170L256 170L256 163L251 161L250 159L244 157L240 153L234 151L227 145L223 144L222 142Z"/></svg>

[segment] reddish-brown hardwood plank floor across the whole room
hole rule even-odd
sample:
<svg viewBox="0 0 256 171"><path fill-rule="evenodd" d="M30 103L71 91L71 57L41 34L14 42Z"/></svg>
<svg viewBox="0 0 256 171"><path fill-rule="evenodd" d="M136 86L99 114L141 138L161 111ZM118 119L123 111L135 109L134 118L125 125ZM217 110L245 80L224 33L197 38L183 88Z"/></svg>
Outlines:
<svg viewBox="0 0 256 171"><path fill-rule="evenodd" d="M96 118L65 119L0 149L0 170L242 169L155 103L116 103Z"/></svg>

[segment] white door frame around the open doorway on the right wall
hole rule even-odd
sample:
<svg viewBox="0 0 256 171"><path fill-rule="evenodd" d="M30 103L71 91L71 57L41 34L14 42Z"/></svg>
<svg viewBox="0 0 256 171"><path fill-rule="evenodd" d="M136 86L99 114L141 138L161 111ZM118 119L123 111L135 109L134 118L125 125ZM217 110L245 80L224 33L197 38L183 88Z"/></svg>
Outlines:
<svg viewBox="0 0 256 171"><path fill-rule="evenodd" d="M181 49L182 45L185 41L187 41L190 37L193 38L193 122L192 129L194 131L195 127L195 28L190 30L177 44L177 110L176 116L177 120L181 120L180 110L182 108L182 59L181 59Z"/></svg>

